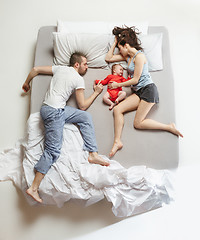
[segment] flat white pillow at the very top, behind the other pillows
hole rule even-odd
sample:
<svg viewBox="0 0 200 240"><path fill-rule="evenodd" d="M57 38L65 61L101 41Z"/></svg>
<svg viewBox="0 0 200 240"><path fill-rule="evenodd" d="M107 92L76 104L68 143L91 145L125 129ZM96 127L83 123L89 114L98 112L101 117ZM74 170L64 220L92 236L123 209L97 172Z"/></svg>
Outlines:
<svg viewBox="0 0 200 240"><path fill-rule="evenodd" d="M147 34L148 22L64 22L57 21L57 31L66 33L112 34L115 26L136 26L142 34Z"/></svg>

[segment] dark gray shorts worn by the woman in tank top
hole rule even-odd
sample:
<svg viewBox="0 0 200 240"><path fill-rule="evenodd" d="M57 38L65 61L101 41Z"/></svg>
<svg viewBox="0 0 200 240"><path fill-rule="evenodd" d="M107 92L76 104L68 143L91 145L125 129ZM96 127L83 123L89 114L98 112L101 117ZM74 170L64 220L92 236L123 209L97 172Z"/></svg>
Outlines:
<svg viewBox="0 0 200 240"><path fill-rule="evenodd" d="M133 91L141 100L151 103L159 103L159 94L154 83L150 83L138 91Z"/></svg>

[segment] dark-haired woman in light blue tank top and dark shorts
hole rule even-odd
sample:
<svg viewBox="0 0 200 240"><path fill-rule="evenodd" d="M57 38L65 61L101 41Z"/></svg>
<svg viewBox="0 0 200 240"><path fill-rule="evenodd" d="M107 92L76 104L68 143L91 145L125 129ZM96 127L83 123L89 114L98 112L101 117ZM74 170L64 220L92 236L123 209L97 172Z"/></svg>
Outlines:
<svg viewBox="0 0 200 240"><path fill-rule="evenodd" d="M134 28L119 28L113 29L115 41L106 55L107 62L127 61L128 73L131 79L110 84L111 88L129 87L133 89L133 94L119 103L114 108L114 143L110 152L110 157L123 147L121 134L124 125L125 112L136 110L134 119L134 127L137 129L157 129L164 130L183 137L176 129L175 124L163 124L152 119L146 119L147 114L154 104L159 102L159 96L156 85L148 72L148 62L142 52L140 41ZM115 47L119 48L120 54L114 54Z"/></svg>

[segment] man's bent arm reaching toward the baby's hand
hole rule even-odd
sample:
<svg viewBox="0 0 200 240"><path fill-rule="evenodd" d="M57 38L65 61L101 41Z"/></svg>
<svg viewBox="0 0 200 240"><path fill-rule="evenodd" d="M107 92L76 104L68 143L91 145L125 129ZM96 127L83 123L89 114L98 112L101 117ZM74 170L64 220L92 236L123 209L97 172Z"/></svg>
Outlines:
<svg viewBox="0 0 200 240"><path fill-rule="evenodd" d="M96 99L96 97L102 92L103 85L101 83L98 83L97 85L94 85L94 92L92 95L85 99L85 92L84 89L77 89L76 90L76 101L78 104L79 109L86 110L89 108L89 106L93 103L93 101Z"/></svg>

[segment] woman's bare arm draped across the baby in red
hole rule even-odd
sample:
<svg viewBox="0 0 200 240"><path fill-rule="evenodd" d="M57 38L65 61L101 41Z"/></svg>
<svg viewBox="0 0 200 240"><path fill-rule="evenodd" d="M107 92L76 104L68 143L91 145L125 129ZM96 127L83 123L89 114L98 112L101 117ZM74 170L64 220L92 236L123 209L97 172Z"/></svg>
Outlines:
<svg viewBox="0 0 200 240"><path fill-rule="evenodd" d="M112 82L109 86L111 88L118 88L118 87L129 87L131 85L137 84L139 82L140 77L141 77L145 60L146 59L143 56L143 54L138 54L135 58L135 69L134 69L133 78L131 78L128 81L122 82L122 83Z"/></svg>

